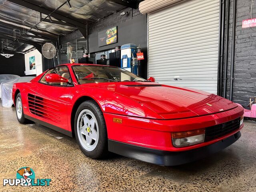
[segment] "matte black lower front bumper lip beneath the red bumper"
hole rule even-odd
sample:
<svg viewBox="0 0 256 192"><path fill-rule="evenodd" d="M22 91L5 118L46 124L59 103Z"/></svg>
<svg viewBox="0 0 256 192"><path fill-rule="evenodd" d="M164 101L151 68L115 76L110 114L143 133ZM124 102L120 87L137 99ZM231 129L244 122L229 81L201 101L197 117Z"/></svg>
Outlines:
<svg viewBox="0 0 256 192"><path fill-rule="evenodd" d="M240 136L241 133L237 132L229 136L228 138L225 138L213 144L200 148L195 148L192 150L178 152L156 150L114 140L108 140L108 150L122 156L138 159L152 164L175 166L188 162L193 162L210 156L211 154L214 154L230 146L231 144L236 142L240 138Z"/></svg>

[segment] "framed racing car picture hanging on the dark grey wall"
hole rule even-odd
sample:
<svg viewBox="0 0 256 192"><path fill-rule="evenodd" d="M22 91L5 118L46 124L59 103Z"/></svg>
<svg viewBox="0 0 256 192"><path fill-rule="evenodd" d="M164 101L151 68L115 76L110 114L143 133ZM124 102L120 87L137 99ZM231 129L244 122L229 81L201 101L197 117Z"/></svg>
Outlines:
<svg viewBox="0 0 256 192"><path fill-rule="evenodd" d="M117 26L98 32L98 46L105 46L117 42Z"/></svg>

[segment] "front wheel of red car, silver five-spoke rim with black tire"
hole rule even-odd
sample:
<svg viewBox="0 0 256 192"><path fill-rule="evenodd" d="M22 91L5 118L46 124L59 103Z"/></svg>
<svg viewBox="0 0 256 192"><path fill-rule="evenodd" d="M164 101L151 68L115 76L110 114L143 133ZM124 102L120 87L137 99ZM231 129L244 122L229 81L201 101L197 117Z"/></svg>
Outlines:
<svg viewBox="0 0 256 192"><path fill-rule="evenodd" d="M80 104L76 111L75 135L82 152L93 159L108 154L108 137L103 113L95 101Z"/></svg>

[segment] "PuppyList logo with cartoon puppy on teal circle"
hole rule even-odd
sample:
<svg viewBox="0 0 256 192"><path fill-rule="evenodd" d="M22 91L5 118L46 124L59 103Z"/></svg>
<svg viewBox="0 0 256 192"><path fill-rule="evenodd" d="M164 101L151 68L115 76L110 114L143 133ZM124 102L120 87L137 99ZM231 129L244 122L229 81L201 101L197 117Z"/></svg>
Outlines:
<svg viewBox="0 0 256 192"><path fill-rule="evenodd" d="M36 175L32 168L22 167L16 173L16 179L4 179L4 186L50 186L51 179L35 179Z"/></svg>

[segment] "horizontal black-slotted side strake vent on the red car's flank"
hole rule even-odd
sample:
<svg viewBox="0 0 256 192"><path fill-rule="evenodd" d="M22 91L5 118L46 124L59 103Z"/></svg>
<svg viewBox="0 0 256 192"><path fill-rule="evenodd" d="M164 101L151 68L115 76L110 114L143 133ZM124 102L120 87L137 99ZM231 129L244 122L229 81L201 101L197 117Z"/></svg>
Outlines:
<svg viewBox="0 0 256 192"><path fill-rule="evenodd" d="M58 106L52 104L48 99L28 94L28 108L29 111L36 116L60 122Z"/></svg>

